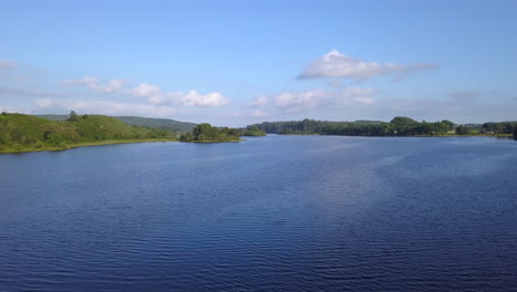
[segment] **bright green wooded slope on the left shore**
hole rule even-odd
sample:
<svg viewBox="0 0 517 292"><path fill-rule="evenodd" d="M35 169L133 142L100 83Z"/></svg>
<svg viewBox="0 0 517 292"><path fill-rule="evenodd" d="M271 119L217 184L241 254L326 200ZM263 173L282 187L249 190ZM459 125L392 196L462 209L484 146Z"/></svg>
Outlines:
<svg viewBox="0 0 517 292"><path fill-rule="evenodd" d="M0 114L0 152L67 149L146 139L175 140L176 133L129 126L108 116L80 116L75 112L62 122L23 114Z"/></svg>

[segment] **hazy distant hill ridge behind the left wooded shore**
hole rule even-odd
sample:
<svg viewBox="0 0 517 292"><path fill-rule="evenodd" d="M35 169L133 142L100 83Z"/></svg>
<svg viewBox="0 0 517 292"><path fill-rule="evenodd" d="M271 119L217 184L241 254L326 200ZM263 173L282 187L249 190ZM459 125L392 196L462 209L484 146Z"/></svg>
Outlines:
<svg viewBox="0 0 517 292"><path fill-rule="evenodd" d="M50 121L65 121L68 115L36 115ZM118 121L122 121L130 126L161 128L173 132L190 132L197 126L194 123L179 122L170 118L151 118L151 117L139 117L139 116L114 116Z"/></svg>

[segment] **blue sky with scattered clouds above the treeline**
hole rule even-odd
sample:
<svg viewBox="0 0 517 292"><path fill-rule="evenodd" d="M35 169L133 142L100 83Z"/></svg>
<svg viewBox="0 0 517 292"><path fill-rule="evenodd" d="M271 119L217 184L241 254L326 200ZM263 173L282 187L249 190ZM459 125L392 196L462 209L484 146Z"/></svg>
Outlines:
<svg viewBox="0 0 517 292"><path fill-rule="evenodd" d="M517 121L517 1L0 0L0 111Z"/></svg>

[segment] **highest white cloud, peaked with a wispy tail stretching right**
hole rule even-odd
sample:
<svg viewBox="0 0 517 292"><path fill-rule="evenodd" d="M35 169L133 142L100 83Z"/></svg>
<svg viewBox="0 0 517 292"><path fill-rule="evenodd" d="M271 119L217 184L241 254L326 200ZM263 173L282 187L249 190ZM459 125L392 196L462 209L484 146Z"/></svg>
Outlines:
<svg viewBox="0 0 517 292"><path fill-rule="evenodd" d="M408 73L434 69L434 64L415 63L402 65L398 63L377 63L357 60L337 50L331 50L324 56L317 59L309 64L298 79L352 79L367 80L374 76L395 74L398 79L405 76Z"/></svg>

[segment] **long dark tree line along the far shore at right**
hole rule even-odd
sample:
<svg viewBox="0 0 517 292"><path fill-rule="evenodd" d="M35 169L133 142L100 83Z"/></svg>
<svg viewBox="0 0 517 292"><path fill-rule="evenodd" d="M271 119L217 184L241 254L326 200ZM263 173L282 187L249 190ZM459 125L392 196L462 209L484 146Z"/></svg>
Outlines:
<svg viewBox="0 0 517 292"><path fill-rule="evenodd" d="M433 135L504 135L514 133L517 122L485 123L476 128L456 126L451 121L418 122L398 116L389 123L376 121L327 122L315 119L264 122L251 125L270 134L319 134L347 136L433 136Z"/></svg>

